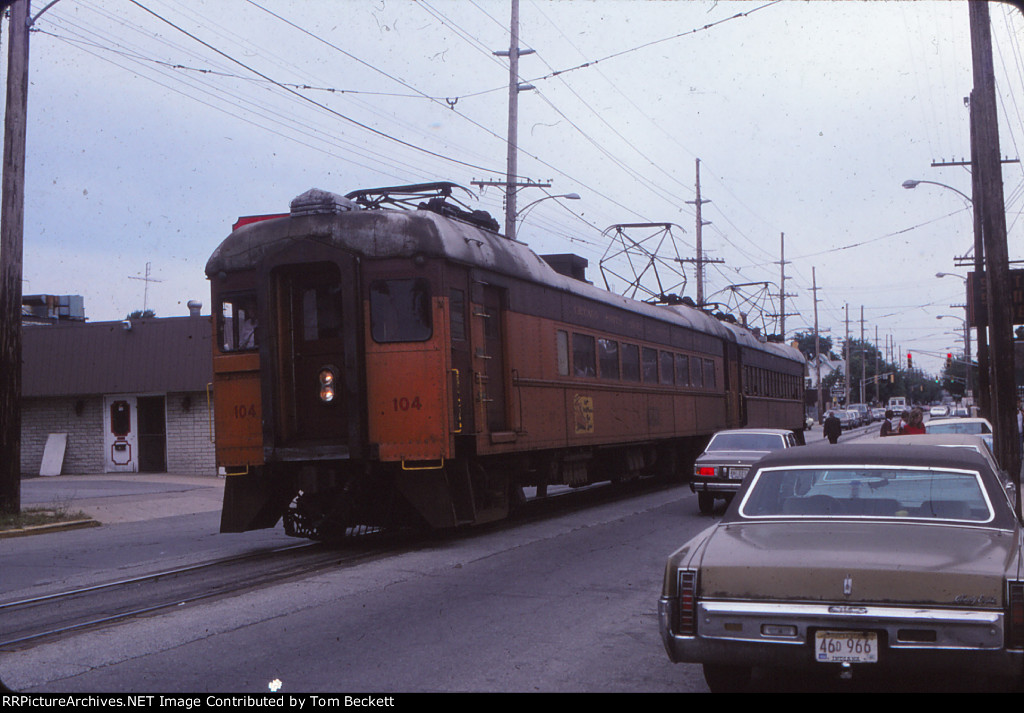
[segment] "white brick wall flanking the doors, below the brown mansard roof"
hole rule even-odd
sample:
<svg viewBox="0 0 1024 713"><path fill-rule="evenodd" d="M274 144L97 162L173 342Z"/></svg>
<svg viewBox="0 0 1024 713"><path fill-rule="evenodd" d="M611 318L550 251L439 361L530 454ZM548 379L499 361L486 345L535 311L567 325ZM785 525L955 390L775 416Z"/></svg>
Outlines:
<svg viewBox="0 0 1024 713"><path fill-rule="evenodd" d="M167 472L215 475L206 392L166 395ZM22 407L22 472L38 475L46 437L67 433L62 473L102 473L103 397L26 399Z"/></svg>

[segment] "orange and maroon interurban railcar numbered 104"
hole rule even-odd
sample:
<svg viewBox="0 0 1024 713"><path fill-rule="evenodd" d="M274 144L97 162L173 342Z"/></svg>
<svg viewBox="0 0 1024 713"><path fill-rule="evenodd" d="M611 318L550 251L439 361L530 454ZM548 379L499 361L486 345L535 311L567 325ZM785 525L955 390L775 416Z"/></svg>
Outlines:
<svg viewBox="0 0 1024 713"><path fill-rule="evenodd" d="M596 288L456 187L310 191L213 253L222 531L479 523L524 487L687 474L721 428L801 432L796 349Z"/></svg>

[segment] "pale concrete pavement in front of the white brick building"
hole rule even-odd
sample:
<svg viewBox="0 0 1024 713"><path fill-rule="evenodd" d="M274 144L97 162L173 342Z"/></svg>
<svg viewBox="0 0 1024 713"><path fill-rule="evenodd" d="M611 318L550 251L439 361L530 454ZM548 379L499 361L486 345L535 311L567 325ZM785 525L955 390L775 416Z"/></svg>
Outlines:
<svg viewBox="0 0 1024 713"><path fill-rule="evenodd" d="M217 475L97 473L38 476L22 479L22 509L54 507L68 512L81 510L90 520L79 521L76 527L114 525L218 511L223 494L224 478ZM0 532L0 537L25 534L28 533L7 531Z"/></svg>

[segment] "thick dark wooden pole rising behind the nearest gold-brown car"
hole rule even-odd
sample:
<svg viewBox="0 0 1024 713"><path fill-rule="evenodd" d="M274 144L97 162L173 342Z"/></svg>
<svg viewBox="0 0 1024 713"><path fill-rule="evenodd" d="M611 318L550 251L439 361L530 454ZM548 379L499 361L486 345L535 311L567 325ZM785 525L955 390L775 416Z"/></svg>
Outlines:
<svg viewBox="0 0 1024 713"><path fill-rule="evenodd" d="M1020 511L1020 437L1017 431L1017 385L1014 374L1013 316L1010 300L1010 259L1007 215L1002 198L1002 166L992 70L992 36L985 0L971 0L971 55L974 91L971 110L975 122L977 162L973 171L981 186L982 237L985 246L985 285L988 298L988 344L992 362L991 421L995 457L1017 486ZM973 152L972 152L973 153ZM977 199L976 199L977 200Z"/></svg>

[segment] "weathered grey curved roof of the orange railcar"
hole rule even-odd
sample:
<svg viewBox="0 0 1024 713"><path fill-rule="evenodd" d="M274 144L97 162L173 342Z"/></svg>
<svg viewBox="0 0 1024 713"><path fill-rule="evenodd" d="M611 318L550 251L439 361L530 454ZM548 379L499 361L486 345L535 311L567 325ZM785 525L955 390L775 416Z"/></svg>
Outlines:
<svg viewBox="0 0 1024 713"><path fill-rule="evenodd" d="M430 210L365 210L346 199L341 201L344 203L333 211L292 214L240 226L210 256L207 277L251 269L282 247L303 242L327 244L371 258L441 257L738 341L791 361L804 361L788 345L761 342L745 329L722 323L699 309L639 302L556 272L525 243L471 223Z"/></svg>

